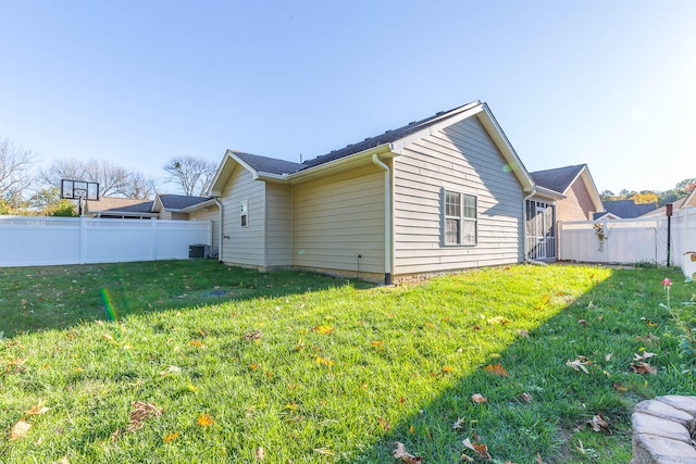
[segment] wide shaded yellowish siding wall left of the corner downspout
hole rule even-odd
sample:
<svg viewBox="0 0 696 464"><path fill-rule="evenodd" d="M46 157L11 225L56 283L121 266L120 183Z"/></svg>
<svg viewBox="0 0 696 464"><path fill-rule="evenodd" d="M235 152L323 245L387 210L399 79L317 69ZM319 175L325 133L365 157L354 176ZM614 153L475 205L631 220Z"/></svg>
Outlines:
<svg viewBox="0 0 696 464"><path fill-rule="evenodd" d="M293 263L384 273L384 171L370 165L294 187Z"/></svg>

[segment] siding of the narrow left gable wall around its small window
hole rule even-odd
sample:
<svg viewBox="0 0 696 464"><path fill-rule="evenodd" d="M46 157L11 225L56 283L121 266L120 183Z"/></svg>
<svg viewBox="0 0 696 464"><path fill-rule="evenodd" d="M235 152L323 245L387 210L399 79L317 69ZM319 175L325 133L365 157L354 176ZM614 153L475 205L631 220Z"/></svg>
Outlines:
<svg viewBox="0 0 696 464"><path fill-rule="evenodd" d="M254 180L247 170L236 166L222 191L222 261L229 264L265 266L264 222L265 184ZM248 225L241 227L239 206L248 201Z"/></svg>

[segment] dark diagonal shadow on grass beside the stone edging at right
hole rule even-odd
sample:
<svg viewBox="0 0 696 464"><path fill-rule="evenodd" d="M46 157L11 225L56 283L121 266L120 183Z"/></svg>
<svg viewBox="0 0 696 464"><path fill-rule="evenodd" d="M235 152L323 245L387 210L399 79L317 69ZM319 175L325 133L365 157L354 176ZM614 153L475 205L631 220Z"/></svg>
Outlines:
<svg viewBox="0 0 696 464"><path fill-rule="evenodd" d="M530 329L529 337L518 333L513 342L452 379L432 401L397 424L383 426L372 448L340 462L401 462L393 456L396 442L424 463L467 462L462 454L483 462L463 446L467 438L487 446L498 463L629 462L635 403L694 391L692 374L680 372L684 366L679 366L678 340L666 336L671 330L669 313L658 304L667 273L614 271ZM555 297L562 294L550 296ZM492 329L484 324L482 333ZM493 330L514 331L514 323L510 325ZM634 353L645 351L656 353L648 360L658 368L656 376L631 367ZM581 364L573 367L575 360ZM475 393L487 401L474 402ZM595 431L588 423L599 414L609 423L608 430Z"/></svg>

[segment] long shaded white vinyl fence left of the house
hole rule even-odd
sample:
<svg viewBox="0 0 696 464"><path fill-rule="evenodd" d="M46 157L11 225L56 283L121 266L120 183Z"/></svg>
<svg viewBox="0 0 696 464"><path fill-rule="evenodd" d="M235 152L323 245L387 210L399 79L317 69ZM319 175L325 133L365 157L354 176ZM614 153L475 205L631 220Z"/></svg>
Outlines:
<svg viewBox="0 0 696 464"><path fill-rule="evenodd" d="M0 216L0 267L179 260L210 221Z"/></svg>

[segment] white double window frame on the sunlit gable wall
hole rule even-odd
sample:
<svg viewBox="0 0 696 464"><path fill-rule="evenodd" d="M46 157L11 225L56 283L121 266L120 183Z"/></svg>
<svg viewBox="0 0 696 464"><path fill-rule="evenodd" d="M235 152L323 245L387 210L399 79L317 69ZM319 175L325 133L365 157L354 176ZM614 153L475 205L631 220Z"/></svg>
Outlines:
<svg viewBox="0 0 696 464"><path fill-rule="evenodd" d="M450 197L458 199L458 204L450 206ZM473 215L467 200L473 200ZM450 208L448 208L450 206ZM456 237L448 234L448 225L457 224ZM469 225L469 227L467 227ZM473 240L465 234L473 225ZM460 190L443 189L443 244L445 247L475 247L478 244L478 197Z"/></svg>

